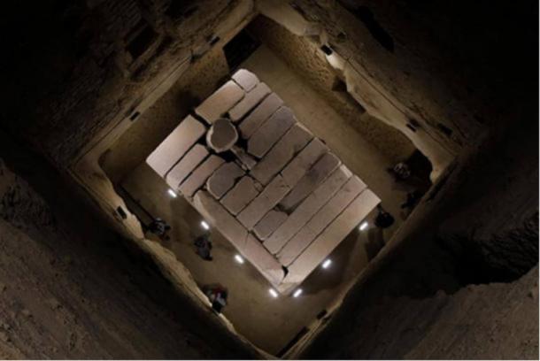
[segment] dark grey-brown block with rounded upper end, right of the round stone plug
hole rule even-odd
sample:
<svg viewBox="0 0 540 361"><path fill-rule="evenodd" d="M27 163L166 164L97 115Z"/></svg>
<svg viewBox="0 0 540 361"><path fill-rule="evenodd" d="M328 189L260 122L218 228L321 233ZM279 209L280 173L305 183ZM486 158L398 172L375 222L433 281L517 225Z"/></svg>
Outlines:
<svg viewBox="0 0 540 361"><path fill-rule="evenodd" d="M275 142L279 141L295 123L296 119L292 111L282 106L251 135L248 140L248 153L258 158L264 157Z"/></svg>

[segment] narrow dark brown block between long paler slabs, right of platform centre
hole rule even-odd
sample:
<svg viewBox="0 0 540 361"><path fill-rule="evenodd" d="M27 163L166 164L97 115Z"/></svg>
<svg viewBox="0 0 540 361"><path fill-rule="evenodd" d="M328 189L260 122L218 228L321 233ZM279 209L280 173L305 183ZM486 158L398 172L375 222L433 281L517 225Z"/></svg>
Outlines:
<svg viewBox="0 0 540 361"><path fill-rule="evenodd" d="M280 202L285 210L294 210L306 196L312 193L328 175L341 165L341 161L332 153L326 153L298 180L297 185L292 188L287 196Z"/></svg>

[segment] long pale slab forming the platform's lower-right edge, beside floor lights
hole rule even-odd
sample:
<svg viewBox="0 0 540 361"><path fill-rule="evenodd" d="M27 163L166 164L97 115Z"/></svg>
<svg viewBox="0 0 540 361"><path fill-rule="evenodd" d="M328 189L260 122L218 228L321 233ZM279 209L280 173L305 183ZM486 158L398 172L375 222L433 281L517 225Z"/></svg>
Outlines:
<svg viewBox="0 0 540 361"><path fill-rule="evenodd" d="M358 227L362 219L365 219L370 211L381 200L374 193L365 189L347 206L334 221L309 245L297 259L289 265L289 273L284 283L299 283L312 273L320 263L351 233L354 227Z"/></svg>

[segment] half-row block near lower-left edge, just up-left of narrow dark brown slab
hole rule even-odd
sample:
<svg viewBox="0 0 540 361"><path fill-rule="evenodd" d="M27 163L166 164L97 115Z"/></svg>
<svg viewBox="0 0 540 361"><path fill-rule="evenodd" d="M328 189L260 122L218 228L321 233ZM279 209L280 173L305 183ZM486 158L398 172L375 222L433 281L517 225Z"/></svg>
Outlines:
<svg viewBox="0 0 540 361"><path fill-rule="evenodd" d="M238 215L238 220L248 229L252 229L257 222L262 219L267 211L274 208L282 197L289 192L289 187L280 175L274 177L274 180L263 189L257 198L251 201L247 207Z"/></svg>

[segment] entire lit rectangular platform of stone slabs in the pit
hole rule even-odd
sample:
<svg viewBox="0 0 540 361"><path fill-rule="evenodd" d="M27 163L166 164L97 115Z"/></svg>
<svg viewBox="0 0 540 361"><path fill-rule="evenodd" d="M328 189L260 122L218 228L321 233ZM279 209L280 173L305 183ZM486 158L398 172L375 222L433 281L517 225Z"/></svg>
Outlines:
<svg viewBox="0 0 540 361"><path fill-rule="evenodd" d="M147 163L282 293L380 202L253 73L236 72L195 113Z"/></svg>

